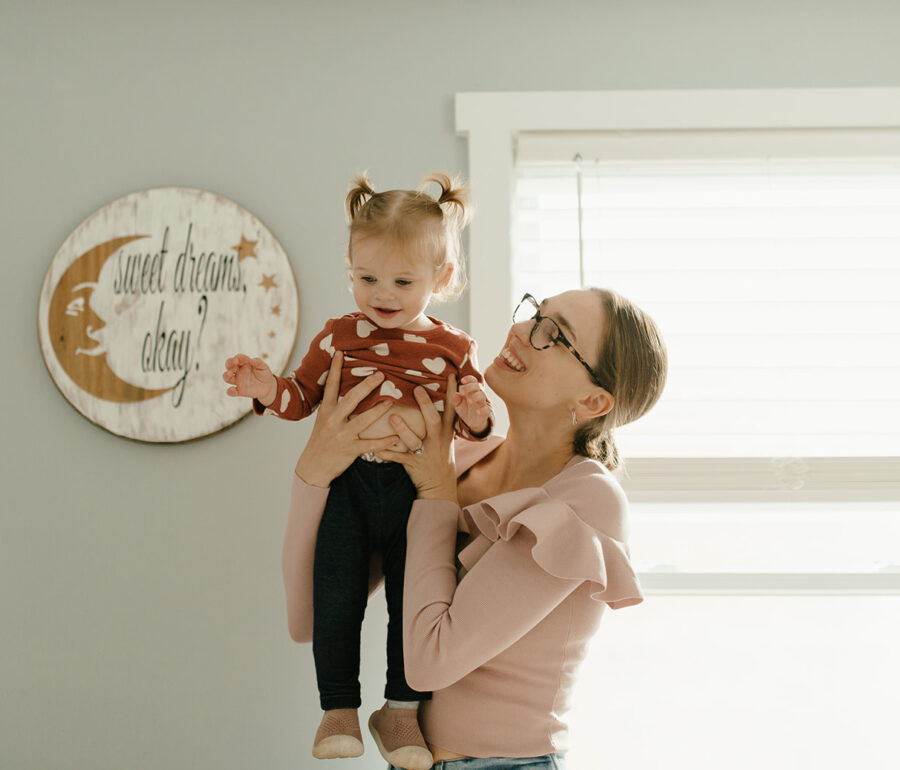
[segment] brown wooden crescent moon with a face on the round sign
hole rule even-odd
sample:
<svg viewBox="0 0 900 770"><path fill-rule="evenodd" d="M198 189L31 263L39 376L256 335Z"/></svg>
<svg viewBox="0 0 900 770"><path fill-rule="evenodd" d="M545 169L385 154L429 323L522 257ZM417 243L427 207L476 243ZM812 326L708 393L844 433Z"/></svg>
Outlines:
<svg viewBox="0 0 900 770"><path fill-rule="evenodd" d="M97 331L106 325L91 308L91 294L100 271L120 247L146 237L113 238L86 251L69 265L50 299L49 336L60 366L79 388L106 401L134 403L172 390L141 388L121 379L109 368L106 351L96 338Z"/></svg>

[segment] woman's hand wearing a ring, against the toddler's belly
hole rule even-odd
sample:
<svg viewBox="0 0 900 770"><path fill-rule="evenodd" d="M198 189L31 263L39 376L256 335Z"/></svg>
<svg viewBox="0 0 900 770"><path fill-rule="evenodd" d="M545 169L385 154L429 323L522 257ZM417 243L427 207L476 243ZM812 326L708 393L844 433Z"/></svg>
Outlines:
<svg viewBox="0 0 900 770"><path fill-rule="evenodd" d="M421 385L413 390L413 395L425 418L425 438L420 439L402 418L392 415L391 425L400 436L400 442L409 451L394 452L385 449L378 452L378 456L383 460L398 462L406 468L420 499L456 502L456 461L453 457L456 377L451 374L447 380L443 415L435 408L428 391ZM419 450L422 450L421 453L418 453Z"/></svg>

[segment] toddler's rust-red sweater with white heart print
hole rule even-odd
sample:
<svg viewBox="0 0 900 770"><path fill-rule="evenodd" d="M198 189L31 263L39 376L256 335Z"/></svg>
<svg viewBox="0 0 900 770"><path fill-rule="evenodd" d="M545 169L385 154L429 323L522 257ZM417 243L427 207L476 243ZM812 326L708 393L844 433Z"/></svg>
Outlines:
<svg viewBox="0 0 900 770"><path fill-rule="evenodd" d="M278 390L272 404L265 407L254 399L254 411L286 420L301 420L309 415L322 399L325 378L336 350L344 354L342 396L373 372L384 373L381 387L362 400L357 413L385 399L415 407L413 388L416 385L427 388L431 400L442 409L450 374L456 375L457 382L472 375L483 383L484 377L478 371L475 340L437 318L428 316L428 320L435 324L434 328L410 332L376 326L359 312L329 319L291 376L276 377ZM492 419L490 424L493 425ZM457 420L457 432L474 438L460 420ZM484 438L487 433L478 438Z"/></svg>

